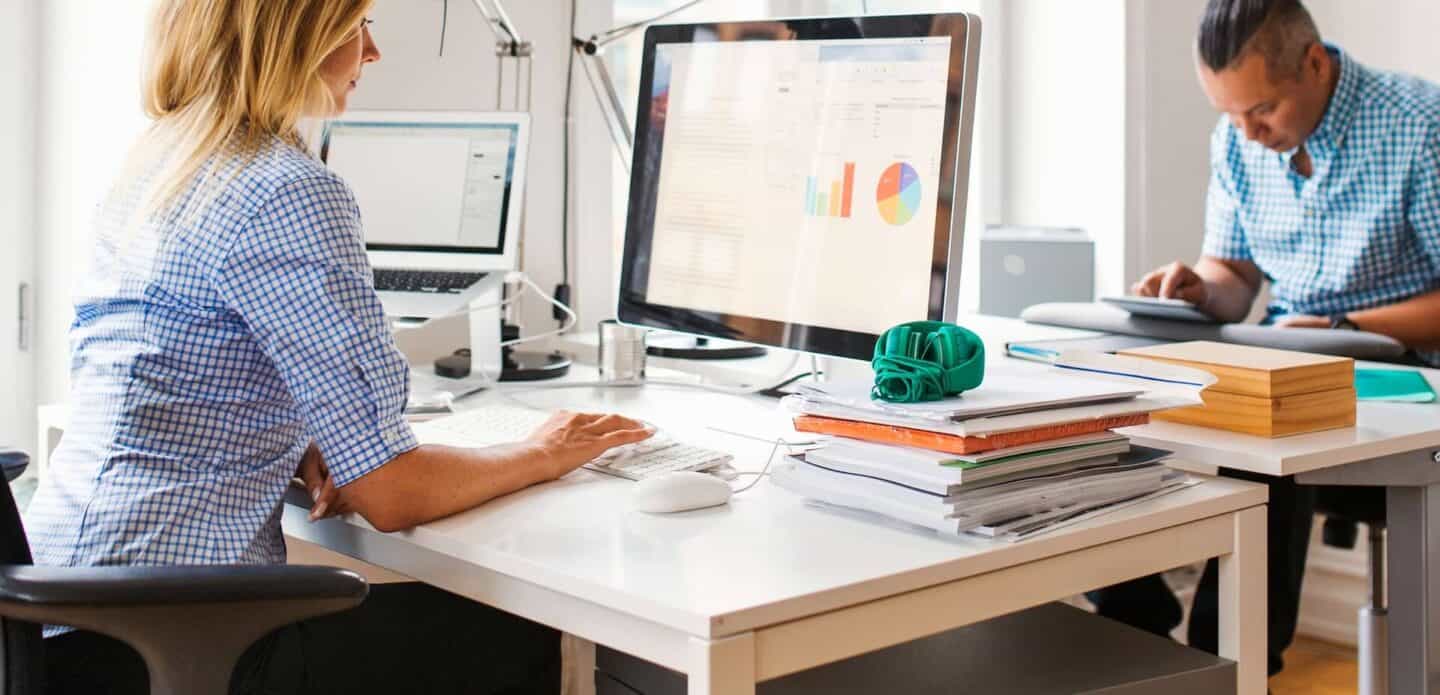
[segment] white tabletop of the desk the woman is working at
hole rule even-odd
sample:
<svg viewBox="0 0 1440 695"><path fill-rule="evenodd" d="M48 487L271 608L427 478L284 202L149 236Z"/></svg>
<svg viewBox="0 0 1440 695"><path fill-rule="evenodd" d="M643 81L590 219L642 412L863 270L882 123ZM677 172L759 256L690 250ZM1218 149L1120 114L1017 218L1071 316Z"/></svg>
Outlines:
<svg viewBox="0 0 1440 695"><path fill-rule="evenodd" d="M734 422L736 414L749 419L773 407L759 399L674 389L654 397L652 391L541 391L520 399L661 423L667 414ZM657 404L670 412L657 413ZM700 439L690 435L690 442ZM770 449L721 433L706 439L698 443L733 452L742 471L759 471ZM690 635L720 637L1264 502L1254 488L1210 481L1133 511L1011 544L812 509L769 482L726 507L672 515L632 511L631 488L629 481L582 469L397 535ZM287 524L287 531L292 527ZM864 548L863 561L857 548Z"/></svg>

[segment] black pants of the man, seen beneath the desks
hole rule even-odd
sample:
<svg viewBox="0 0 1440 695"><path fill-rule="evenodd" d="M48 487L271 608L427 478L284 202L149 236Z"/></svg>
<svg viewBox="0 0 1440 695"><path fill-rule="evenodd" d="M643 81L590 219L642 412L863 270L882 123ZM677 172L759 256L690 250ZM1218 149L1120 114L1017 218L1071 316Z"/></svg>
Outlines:
<svg viewBox="0 0 1440 695"><path fill-rule="evenodd" d="M1221 475L1270 486L1266 519L1270 544L1270 614L1266 623L1270 675L1276 675L1284 668L1282 656L1295 639L1295 624L1300 614L1300 581L1305 577L1305 555L1315 517L1315 489L1296 485L1293 476L1274 478L1243 471L1224 471ZM1210 653L1215 653L1220 643L1218 573L1215 560L1205 563L1189 616L1189 645ZM1089 597L1102 616L1155 635L1169 635L1181 620L1179 601L1159 574L1092 591Z"/></svg>

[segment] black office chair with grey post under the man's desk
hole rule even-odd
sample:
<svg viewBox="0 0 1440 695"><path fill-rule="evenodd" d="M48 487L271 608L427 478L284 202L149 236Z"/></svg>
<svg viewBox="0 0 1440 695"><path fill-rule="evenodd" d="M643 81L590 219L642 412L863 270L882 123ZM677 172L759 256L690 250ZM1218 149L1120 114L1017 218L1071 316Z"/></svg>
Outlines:
<svg viewBox="0 0 1440 695"><path fill-rule="evenodd" d="M1315 508L1325 515L1320 535L1332 548L1354 550L1358 525L1369 530L1369 603L1359 609L1359 695L1390 692L1385 642L1385 488L1320 486Z"/></svg>

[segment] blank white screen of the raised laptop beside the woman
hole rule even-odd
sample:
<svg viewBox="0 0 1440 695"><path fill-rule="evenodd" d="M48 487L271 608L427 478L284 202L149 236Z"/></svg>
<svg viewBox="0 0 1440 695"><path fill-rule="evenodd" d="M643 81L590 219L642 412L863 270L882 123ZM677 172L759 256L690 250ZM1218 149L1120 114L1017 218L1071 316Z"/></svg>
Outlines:
<svg viewBox="0 0 1440 695"><path fill-rule="evenodd" d="M321 158L354 190L370 250L500 253L520 125L337 121Z"/></svg>

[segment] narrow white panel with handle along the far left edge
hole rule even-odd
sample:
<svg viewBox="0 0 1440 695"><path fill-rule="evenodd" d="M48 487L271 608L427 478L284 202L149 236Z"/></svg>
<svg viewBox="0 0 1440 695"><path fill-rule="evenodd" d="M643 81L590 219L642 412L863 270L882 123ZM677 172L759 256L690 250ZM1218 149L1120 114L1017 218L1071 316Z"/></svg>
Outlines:
<svg viewBox="0 0 1440 695"><path fill-rule="evenodd" d="M19 286L35 282L36 0L0 7L0 442L33 449L35 358L19 348Z"/></svg>

